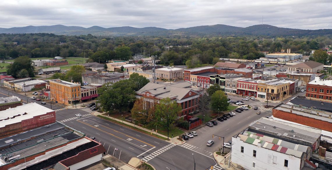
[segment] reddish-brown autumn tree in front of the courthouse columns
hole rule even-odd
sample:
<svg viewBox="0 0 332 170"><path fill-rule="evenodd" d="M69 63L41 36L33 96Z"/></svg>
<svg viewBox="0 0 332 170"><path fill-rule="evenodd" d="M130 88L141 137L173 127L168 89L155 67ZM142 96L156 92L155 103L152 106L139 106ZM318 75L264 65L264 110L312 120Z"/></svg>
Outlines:
<svg viewBox="0 0 332 170"><path fill-rule="evenodd" d="M147 125L154 119L154 106L149 106L150 102L140 98L135 101L134 106L130 110L131 117L142 125Z"/></svg>

